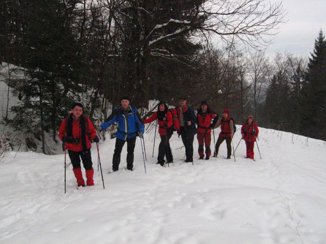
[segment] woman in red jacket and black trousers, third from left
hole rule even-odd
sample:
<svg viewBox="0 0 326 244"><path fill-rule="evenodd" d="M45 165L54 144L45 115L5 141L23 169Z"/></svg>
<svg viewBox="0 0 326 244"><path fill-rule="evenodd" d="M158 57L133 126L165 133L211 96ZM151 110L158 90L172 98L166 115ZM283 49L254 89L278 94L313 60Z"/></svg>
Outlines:
<svg viewBox="0 0 326 244"><path fill-rule="evenodd" d="M173 124L172 112L168 109L166 103L159 103L157 106L157 112L151 117L144 120L144 124L151 123L154 120L158 120L158 133L161 138L161 142L158 146L157 164L164 166L164 156L166 156L168 163L173 163L173 156L170 147L170 138L173 134L173 127L179 127L178 120L175 119Z"/></svg>

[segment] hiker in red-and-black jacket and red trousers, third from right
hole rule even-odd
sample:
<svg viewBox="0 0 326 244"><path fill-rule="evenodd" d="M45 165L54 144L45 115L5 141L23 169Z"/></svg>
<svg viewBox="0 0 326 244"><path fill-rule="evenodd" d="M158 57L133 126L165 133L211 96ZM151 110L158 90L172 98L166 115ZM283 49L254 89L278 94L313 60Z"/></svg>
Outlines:
<svg viewBox="0 0 326 244"><path fill-rule="evenodd" d="M212 121L213 120L213 121ZM211 129L214 128L218 122L219 116L212 112L211 107L208 106L206 101L201 102L200 109L197 113L197 140L198 140L198 154L199 159L204 159L204 143L206 160L211 155L210 141Z"/></svg>

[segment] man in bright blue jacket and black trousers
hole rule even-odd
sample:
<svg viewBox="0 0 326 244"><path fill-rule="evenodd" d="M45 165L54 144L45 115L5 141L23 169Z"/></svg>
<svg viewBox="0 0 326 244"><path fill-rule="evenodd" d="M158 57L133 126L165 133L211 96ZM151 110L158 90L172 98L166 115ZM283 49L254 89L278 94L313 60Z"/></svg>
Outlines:
<svg viewBox="0 0 326 244"><path fill-rule="evenodd" d="M140 114L136 108L132 108L130 99L123 97L120 100L121 105L115 108L113 114L115 116L108 121L98 126L98 130L105 130L113 123L118 123L118 131L116 133L116 147L114 149L112 169L119 170L122 147L127 142L127 169L132 171L133 168L133 151L137 135L143 137L144 125Z"/></svg>

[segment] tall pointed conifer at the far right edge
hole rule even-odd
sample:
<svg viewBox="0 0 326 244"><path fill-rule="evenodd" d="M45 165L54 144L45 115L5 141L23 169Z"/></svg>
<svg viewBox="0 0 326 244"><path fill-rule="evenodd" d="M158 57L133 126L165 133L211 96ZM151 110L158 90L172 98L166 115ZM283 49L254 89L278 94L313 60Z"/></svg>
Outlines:
<svg viewBox="0 0 326 244"><path fill-rule="evenodd" d="M302 88L301 132L326 138L326 41L320 30Z"/></svg>

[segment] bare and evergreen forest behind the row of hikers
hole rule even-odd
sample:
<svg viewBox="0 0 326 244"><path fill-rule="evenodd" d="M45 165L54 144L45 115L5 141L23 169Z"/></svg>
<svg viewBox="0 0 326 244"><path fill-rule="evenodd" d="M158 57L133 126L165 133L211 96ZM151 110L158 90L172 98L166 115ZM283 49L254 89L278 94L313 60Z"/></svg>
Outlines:
<svg viewBox="0 0 326 244"><path fill-rule="evenodd" d="M0 76L19 99L2 123L47 153L44 133L57 142L75 100L103 121L125 95L142 115L149 100L187 97L230 108L237 124L253 114L261 127L326 140L324 35L309 57L267 57L284 16L265 0L2 2L0 62L12 66Z"/></svg>

